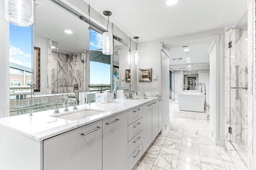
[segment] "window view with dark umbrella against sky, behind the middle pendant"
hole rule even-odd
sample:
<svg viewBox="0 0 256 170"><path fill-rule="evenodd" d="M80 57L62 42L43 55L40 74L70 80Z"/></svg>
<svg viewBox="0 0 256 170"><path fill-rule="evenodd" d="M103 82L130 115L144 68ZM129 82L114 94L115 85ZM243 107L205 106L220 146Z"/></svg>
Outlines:
<svg viewBox="0 0 256 170"><path fill-rule="evenodd" d="M90 91L110 92L111 55L102 54L102 34L90 29ZM93 97L91 96L93 102Z"/></svg>

